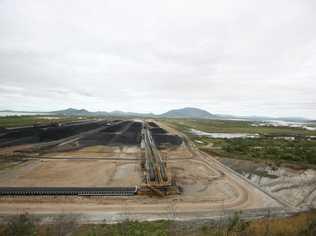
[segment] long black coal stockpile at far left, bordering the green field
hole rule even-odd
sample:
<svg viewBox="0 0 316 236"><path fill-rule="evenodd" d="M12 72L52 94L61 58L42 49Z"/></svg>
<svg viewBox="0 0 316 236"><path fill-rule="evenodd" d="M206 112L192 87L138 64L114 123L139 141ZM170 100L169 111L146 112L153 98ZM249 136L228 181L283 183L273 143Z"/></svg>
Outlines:
<svg viewBox="0 0 316 236"><path fill-rule="evenodd" d="M25 143L48 142L67 138L88 130L96 129L104 125L104 122L83 122L64 125L42 125L7 129L0 136L0 147Z"/></svg>

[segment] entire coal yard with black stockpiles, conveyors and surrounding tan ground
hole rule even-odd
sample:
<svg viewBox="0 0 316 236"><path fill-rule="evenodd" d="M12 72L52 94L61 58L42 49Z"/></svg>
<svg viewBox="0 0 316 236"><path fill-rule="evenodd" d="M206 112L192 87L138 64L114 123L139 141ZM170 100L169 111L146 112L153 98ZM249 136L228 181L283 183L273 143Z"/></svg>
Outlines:
<svg viewBox="0 0 316 236"><path fill-rule="evenodd" d="M171 206L183 217L212 214L223 204L232 210L286 207L156 120L3 128L0 156L5 213L27 207L38 214L122 214L123 205L138 217L155 218Z"/></svg>

